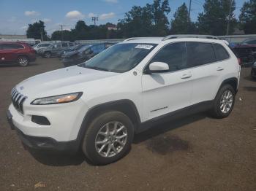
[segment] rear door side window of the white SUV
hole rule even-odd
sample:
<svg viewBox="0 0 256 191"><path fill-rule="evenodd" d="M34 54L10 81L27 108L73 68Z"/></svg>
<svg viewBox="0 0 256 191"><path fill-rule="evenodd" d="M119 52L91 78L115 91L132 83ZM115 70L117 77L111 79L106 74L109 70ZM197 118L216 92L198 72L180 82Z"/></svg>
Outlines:
<svg viewBox="0 0 256 191"><path fill-rule="evenodd" d="M216 61L214 49L210 43L187 42L187 61L189 67L213 63Z"/></svg>

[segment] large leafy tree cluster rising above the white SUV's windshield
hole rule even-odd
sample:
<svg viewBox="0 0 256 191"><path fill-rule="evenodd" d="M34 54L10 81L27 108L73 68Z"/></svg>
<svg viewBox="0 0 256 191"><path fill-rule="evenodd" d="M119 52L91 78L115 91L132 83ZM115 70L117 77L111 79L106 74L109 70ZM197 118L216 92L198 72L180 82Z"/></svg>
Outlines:
<svg viewBox="0 0 256 191"><path fill-rule="evenodd" d="M134 6L119 20L118 36L165 36L169 31L167 14L170 12L167 0L154 0L145 7Z"/></svg>

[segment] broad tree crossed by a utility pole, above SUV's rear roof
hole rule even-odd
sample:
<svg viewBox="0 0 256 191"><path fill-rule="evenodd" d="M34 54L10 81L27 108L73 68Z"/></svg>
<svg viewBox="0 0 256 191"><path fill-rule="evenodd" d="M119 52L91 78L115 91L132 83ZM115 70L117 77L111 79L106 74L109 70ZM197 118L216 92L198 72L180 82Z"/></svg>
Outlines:
<svg viewBox="0 0 256 191"><path fill-rule="evenodd" d="M230 33L236 24L233 11L236 9L235 1L230 0L206 0L203 4L203 12L198 15L197 27L200 34L225 35L227 32L227 21L230 17Z"/></svg>

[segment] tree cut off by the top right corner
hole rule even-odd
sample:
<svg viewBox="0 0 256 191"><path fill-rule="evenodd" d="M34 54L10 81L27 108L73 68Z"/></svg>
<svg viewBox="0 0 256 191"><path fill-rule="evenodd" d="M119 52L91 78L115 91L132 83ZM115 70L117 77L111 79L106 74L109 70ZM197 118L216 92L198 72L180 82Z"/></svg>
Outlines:
<svg viewBox="0 0 256 191"><path fill-rule="evenodd" d="M239 15L239 26L245 34L256 33L256 0L244 3Z"/></svg>

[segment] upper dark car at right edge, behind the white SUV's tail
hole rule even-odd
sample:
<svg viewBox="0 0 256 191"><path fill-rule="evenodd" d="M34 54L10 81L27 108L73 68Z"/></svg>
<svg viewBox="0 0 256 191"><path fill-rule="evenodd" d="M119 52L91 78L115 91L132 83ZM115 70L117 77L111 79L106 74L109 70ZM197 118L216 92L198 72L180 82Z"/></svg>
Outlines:
<svg viewBox="0 0 256 191"><path fill-rule="evenodd" d="M251 66L256 61L256 39L246 39L232 48L242 65Z"/></svg>

